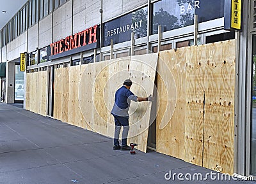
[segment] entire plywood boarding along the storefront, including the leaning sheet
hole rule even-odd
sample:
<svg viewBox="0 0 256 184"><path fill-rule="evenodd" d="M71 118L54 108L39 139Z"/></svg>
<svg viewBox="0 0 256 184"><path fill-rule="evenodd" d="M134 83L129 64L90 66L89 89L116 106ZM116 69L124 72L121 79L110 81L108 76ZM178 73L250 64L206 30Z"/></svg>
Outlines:
<svg viewBox="0 0 256 184"><path fill-rule="evenodd" d="M126 78L137 96L157 81L156 150L209 169L234 172L236 41L56 69L54 117L113 138L110 115ZM158 64L157 64L158 60ZM157 66L157 75L156 75ZM46 115L47 71L28 73L26 109ZM149 102L132 103L129 143L146 152ZM154 118L153 118L154 119Z"/></svg>

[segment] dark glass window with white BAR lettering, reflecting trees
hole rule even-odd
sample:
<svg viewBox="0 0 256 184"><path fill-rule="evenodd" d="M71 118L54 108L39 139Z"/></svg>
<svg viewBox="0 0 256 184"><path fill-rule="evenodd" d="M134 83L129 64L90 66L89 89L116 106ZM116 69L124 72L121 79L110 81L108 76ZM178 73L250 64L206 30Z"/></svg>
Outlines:
<svg viewBox="0 0 256 184"><path fill-rule="evenodd" d="M198 22L224 17L225 0L162 0L153 4L152 34L193 25L194 15Z"/></svg>

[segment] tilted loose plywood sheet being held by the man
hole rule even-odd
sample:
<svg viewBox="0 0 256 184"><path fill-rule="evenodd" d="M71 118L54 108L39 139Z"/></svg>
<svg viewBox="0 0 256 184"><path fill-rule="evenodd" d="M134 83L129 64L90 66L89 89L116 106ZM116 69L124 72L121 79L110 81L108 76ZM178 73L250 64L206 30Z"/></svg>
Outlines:
<svg viewBox="0 0 256 184"><path fill-rule="evenodd" d="M131 57L131 91L139 97L153 94L158 53ZM138 143L138 150L147 151L148 127L150 125L151 102L131 103L129 110L129 142Z"/></svg>

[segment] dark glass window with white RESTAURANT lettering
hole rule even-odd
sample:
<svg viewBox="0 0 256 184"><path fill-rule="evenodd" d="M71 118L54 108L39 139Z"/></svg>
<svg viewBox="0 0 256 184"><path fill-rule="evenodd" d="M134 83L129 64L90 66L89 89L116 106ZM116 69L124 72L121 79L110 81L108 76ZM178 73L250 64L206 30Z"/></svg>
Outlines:
<svg viewBox="0 0 256 184"><path fill-rule="evenodd" d="M103 46L122 43L131 40L131 32L134 32L134 39L147 36L147 16L148 8L141 8L127 15L106 22L104 27Z"/></svg>

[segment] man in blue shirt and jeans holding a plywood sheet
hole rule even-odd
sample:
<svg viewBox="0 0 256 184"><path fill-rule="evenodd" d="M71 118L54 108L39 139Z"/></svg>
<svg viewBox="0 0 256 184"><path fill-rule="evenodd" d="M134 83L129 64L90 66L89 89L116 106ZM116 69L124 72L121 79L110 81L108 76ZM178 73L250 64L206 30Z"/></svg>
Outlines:
<svg viewBox="0 0 256 184"><path fill-rule="evenodd" d="M127 146L127 136L129 132L129 114L131 100L135 102L153 101L154 97L137 97L130 88L132 81L127 79L124 81L124 85L120 87L115 93L115 103L111 111L111 115L115 118L115 137L113 150L130 150L130 146ZM123 126L122 132L122 146L119 145L119 134Z"/></svg>

